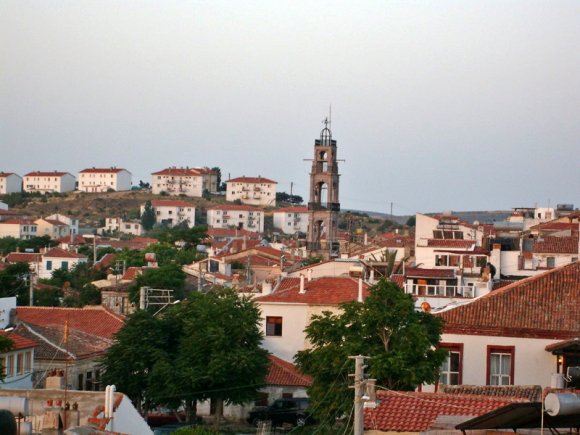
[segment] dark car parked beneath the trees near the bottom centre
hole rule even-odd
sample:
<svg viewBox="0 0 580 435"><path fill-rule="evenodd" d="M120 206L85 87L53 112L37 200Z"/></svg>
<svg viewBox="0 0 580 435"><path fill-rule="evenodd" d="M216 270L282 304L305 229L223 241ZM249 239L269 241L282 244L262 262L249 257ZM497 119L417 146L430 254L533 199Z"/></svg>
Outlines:
<svg viewBox="0 0 580 435"><path fill-rule="evenodd" d="M260 421L269 420L272 422L272 426L280 426L284 423L304 426L311 421L307 408L308 399L305 397L278 399L271 406L251 411L248 423L257 426Z"/></svg>

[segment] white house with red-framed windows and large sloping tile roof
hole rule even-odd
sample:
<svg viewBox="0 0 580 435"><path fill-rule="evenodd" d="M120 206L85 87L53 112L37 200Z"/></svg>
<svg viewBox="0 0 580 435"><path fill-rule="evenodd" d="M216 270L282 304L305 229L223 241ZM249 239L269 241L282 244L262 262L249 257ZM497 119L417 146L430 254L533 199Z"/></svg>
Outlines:
<svg viewBox="0 0 580 435"><path fill-rule="evenodd" d="M576 262L436 314L445 320L441 346L450 352L440 382L550 386L580 366L579 304Z"/></svg>

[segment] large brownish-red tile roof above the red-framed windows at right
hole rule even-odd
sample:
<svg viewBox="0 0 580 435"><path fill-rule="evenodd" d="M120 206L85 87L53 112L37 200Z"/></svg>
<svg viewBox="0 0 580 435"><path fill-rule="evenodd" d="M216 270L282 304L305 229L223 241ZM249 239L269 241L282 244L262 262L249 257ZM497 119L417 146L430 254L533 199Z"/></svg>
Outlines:
<svg viewBox="0 0 580 435"><path fill-rule="evenodd" d="M580 336L580 262L517 281L437 316L444 332L567 339Z"/></svg>

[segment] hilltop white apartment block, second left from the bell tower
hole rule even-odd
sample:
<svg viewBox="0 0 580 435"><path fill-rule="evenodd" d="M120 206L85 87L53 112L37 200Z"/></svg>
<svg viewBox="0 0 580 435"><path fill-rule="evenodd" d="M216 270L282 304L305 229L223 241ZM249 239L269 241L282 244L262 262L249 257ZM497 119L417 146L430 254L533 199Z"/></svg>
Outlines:
<svg viewBox="0 0 580 435"><path fill-rule="evenodd" d="M218 174L209 168L175 166L151 174L151 191L155 195L185 195L201 198L204 191L217 192Z"/></svg>

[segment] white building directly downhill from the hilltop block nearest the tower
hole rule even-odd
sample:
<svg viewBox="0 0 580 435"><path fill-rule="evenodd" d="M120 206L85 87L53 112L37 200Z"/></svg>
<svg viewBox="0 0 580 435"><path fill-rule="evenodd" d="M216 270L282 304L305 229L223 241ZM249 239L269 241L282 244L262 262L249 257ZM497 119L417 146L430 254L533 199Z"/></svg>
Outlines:
<svg viewBox="0 0 580 435"><path fill-rule="evenodd" d="M207 224L211 228L237 228L262 233L264 211L249 205L216 205L207 209Z"/></svg>

